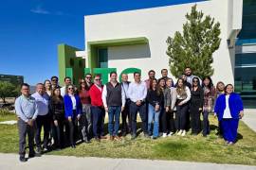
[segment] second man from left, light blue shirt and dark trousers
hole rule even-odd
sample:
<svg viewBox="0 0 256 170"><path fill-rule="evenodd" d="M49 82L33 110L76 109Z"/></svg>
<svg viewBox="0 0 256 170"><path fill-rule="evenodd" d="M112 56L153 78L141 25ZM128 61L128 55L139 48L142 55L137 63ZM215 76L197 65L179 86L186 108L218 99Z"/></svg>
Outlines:
<svg viewBox="0 0 256 170"><path fill-rule="evenodd" d="M36 85L36 93L32 94L32 97L35 98L37 107L38 107L38 115L36 118L36 152L41 153L41 129L44 127L44 144L43 148L46 150L46 146L48 144L49 131L50 131L50 115L48 110L48 100L49 96L46 94L44 84L38 83Z"/></svg>

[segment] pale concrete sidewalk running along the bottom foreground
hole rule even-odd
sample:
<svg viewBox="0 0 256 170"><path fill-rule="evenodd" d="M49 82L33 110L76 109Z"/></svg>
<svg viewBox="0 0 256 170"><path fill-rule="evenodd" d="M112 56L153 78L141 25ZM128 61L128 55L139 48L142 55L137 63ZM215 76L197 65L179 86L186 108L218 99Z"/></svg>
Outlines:
<svg viewBox="0 0 256 170"><path fill-rule="evenodd" d="M135 159L76 158L44 155L27 162L18 161L17 154L0 154L1 170L256 170L256 166L200 163L188 161L151 161Z"/></svg>

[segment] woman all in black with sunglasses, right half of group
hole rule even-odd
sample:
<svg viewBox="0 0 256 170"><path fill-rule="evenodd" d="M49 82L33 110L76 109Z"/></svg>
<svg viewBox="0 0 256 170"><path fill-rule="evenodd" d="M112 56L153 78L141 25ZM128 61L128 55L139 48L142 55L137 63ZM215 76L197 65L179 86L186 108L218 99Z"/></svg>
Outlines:
<svg viewBox="0 0 256 170"><path fill-rule="evenodd" d="M192 135L197 135L201 131L200 113L204 105L204 91L200 86L198 77L192 78L192 99L191 99L191 123Z"/></svg>

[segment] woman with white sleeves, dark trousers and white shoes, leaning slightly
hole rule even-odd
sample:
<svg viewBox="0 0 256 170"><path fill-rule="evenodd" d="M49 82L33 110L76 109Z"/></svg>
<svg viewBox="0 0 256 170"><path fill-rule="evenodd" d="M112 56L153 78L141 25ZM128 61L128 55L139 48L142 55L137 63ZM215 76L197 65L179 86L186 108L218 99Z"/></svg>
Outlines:
<svg viewBox="0 0 256 170"><path fill-rule="evenodd" d="M178 78L176 83L176 121L177 121L177 135L186 135L187 113L189 110L188 102L191 99L191 90L184 84L182 78Z"/></svg>

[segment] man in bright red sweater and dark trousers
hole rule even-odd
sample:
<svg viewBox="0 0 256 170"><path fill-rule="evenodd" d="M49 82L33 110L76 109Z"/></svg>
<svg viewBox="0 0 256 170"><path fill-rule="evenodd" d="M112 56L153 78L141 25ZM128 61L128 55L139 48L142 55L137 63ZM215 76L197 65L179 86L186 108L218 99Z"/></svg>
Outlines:
<svg viewBox="0 0 256 170"><path fill-rule="evenodd" d="M101 99L103 86L101 84L101 76L96 75L94 78L94 85L90 88L89 94L91 97L91 113L93 124L93 135L96 141L100 142L104 134L104 119L105 110Z"/></svg>

